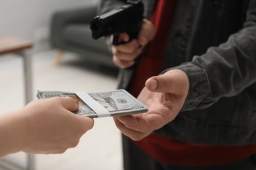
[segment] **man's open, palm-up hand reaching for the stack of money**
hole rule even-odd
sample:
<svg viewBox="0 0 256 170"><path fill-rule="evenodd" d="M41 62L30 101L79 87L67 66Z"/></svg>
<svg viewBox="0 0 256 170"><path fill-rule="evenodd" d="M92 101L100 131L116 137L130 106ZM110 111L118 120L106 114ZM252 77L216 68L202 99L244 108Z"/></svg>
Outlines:
<svg viewBox="0 0 256 170"><path fill-rule="evenodd" d="M188 76L179 69L153 76L146 81L146 87L138 97L148 107L148 112L114 117L116 126L124 135L139 141L179 114L188 90Z"/></svg>

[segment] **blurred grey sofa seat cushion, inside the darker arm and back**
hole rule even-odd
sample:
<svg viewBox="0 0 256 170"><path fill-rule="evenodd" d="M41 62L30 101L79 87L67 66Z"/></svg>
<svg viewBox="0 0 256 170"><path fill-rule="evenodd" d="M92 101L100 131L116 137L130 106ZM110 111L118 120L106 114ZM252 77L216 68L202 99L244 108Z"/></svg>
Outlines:
<svg viewBox="0 0 256 170"><path fill-rule="evenodd" d="M64 41L68 43L85 46L85 49L91 48L91 50L99 50L100 52L110 52L104 38L97 40L92 38L89 24L66 25L66 27L63 27L62 35Z"/></svg>

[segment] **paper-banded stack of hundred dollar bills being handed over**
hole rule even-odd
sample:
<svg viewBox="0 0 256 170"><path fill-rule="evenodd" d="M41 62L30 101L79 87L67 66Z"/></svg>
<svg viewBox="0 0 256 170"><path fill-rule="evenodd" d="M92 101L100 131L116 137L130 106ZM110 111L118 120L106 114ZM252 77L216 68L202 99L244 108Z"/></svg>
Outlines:
<svg viewBox="0 0 256 170"><path fill-rule="evenodd" d="M75 114L92 118L121 116L147 112L148 109L126 90L114 90L100 93L74 93L62 91L39 91L38 99L51 97L72 97L79 101Z"/></svg>

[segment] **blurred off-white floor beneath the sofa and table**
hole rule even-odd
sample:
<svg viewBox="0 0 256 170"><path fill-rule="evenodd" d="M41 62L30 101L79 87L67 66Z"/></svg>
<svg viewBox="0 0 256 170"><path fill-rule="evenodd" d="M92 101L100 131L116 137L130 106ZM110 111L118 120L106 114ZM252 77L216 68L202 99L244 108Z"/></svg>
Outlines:
<svg viewBox="0 0 256 170"><path fill-rule="evenodd" d="M66 53L62 63L56 66L55 56L55 50L32 56L34 99L36 90L104 92L116 89L116 71L71 53ZM22 59L13 55L0 57L1 113L24 106L22 71ZM22 152L6 158L26 165L26 154ZM112 118L96 118L95 126L83 135L76 148L60 155L36 155L35 165L38 170L121 170L121 134Z"/></svg>

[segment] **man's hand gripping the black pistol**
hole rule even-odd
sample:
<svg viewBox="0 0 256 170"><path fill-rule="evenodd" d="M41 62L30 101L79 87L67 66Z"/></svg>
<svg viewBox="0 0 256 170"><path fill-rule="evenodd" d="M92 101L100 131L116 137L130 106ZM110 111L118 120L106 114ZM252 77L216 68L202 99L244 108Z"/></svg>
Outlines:
<svg viewBox="0 0 256 170"><path fill-rule="evenodd" d="M146 19L143 20L138 39L133 39L133 41L127 42L129 41L129 35L127 35L127 33L122 33L119 36L119 41L127 43L112 46L114 63L120 68L132 66L135 62L135 58L139 56L144 46L153 39L154 34L154 25ZM113 39L113 36L111 39Z"/></svg>

